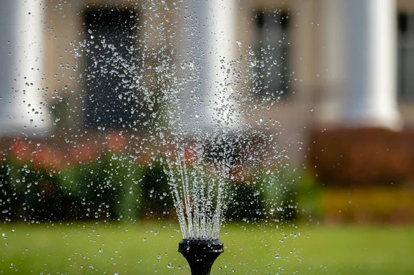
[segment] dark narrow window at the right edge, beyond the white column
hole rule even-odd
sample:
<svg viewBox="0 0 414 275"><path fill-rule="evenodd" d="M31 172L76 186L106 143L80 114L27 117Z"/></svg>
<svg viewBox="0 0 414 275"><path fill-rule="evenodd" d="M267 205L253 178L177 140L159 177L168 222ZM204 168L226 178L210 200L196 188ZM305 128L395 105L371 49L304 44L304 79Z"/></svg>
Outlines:
<svg viewBox="0 0 414 275"><path fill-rule="evenodd" d="M414 14L398 15L398 97L414 101Z"/></svg>

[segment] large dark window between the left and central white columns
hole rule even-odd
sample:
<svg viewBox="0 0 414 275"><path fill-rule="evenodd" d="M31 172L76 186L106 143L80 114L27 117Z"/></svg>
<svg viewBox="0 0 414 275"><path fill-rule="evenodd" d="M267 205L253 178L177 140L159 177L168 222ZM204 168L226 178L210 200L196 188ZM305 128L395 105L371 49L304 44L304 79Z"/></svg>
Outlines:
<svg viewBox="0 0 414 275"><path fill-rule="evenodd" d="M86 125L137 122L137 12L86 10Z"/></svg>

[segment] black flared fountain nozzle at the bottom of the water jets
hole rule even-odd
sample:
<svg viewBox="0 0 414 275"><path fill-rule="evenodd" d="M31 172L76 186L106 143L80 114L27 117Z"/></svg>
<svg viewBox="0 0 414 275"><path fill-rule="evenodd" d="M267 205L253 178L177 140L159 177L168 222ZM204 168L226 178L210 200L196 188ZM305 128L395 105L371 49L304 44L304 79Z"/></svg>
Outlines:
<svg viewBox="0 0 414 275"><path fill-rule="evenodd" d="M219 240L184 239L178 244L178 252L188 261L191 275L210 275L214 261L224 250Z"/></svg>

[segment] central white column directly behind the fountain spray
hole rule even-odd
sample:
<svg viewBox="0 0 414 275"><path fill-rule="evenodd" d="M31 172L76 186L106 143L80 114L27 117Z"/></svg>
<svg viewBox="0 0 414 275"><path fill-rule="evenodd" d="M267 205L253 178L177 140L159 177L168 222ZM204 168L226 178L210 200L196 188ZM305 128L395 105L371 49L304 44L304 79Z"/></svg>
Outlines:
<svg viewBox="0 0 414 275"><path fill-rule="evenodd" d="M236 39L237 6L233 0L188 0L186 54L184 59L199 69L188 87L183 105L184 127L201 130L237 128L238 119L232 99L230 61L239 52Z"/></svg>

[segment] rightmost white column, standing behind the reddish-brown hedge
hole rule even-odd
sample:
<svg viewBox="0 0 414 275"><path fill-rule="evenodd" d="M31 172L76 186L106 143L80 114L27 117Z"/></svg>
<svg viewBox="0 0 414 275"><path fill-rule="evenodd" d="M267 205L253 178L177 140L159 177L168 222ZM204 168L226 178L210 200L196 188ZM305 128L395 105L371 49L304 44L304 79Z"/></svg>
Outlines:
<svg viewBox="0 0 414 275"><path fill-rule="evenodd" d="M397 26L394 0L347 0L348 85L343 123L398 128Z"/></svg>

